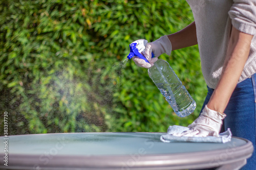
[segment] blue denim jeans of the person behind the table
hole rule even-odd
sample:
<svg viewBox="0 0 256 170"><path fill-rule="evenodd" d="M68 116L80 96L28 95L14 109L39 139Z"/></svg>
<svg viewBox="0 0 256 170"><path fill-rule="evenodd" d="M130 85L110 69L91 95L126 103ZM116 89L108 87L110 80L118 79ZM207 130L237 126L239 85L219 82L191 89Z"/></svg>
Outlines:
<svg viewBox="0 0 256 170"><path fill-rule="evenodd" d="M221 132L230 128L232 135L250 140L253 143L254 151L252 156L247 159L247 164L243 166L243 170L256 169L255 157L255 135L256 135L256 74L252 75L239 84L234 89L229 103L224 111L227 115L224 119ZM209 102L210 96L214 89L208 88L204 106ZM202 112L201 110L201 112Z"/></svg>

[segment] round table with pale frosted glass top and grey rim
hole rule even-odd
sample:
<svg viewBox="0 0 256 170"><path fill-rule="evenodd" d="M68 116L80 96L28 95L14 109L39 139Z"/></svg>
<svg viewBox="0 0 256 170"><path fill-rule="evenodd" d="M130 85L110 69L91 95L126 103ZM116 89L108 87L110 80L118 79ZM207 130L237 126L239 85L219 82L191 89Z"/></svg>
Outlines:
<svg viewBox="0 0 256 170"><path fill-rule="evenodd" d="M253 152L252 143L232 137L227 143L160 141L165 133L98 132L13 135L8 166L0 169L239 169ZM4 158L5 159L5 158Z"/></svg>

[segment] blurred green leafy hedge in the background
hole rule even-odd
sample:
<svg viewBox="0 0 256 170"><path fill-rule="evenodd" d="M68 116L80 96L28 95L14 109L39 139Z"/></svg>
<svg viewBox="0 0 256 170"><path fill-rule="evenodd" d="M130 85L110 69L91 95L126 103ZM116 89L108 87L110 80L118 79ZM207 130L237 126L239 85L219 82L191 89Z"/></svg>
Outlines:
<svg viewBox="0 0 256 170"><path fill-rule="evenodd" d="M189 125L206 95L198 46L160 56L197 103L185 118L173 112L147 69L122 61L134 40L154 41L193 20L178 0L1 0L0 108L2 118L8 112L9 135Z"/></svg>

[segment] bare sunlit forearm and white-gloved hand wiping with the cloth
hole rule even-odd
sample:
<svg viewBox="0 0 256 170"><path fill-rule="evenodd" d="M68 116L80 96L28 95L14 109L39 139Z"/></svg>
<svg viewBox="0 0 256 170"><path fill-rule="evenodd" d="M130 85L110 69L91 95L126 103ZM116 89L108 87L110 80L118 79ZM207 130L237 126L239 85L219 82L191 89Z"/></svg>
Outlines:
<svg viewBox="0 0 256 170"><path fill-rule="evenodd" d="M232 28L221 78L201 115L188 126L190 128L175 136L219 136L223 114L230 96L242 74L250 51L253 35Z"/></svg>

